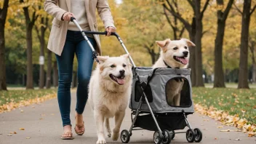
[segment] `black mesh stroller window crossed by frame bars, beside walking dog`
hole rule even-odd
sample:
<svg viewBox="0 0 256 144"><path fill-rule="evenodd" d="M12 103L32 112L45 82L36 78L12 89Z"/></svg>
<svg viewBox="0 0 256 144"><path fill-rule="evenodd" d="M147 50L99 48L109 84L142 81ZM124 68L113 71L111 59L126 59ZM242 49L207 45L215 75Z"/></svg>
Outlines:
<svg viewBox="0 0 256 144"><path fill-rule="evenodd" d="M141 87L143 87L143 89L145 90L145 95L148 98L148 102L152 103L153 96L152 96L151 86L150 85L147 86L145 82L140 83L140 81L135 82L135 102L139 102L140 97L143 95L143 89L141 89ZM145 100L143 100L143 102L144 101Z"/></svg>

